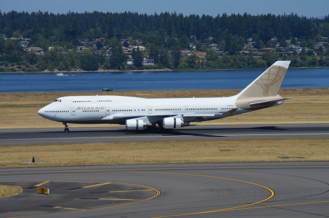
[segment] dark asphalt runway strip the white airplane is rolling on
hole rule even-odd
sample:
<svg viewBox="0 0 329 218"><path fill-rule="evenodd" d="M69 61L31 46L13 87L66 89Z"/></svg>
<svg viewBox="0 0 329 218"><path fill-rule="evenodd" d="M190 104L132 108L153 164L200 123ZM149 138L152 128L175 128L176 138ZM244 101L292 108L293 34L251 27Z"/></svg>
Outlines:
<svg viewBox="0 0 329 218"><path fill-rule="evenodd" d="M3 129L0 146L72 143L328 138L329 124L188 126L159 132L127 132L122 127Z"/></svg>

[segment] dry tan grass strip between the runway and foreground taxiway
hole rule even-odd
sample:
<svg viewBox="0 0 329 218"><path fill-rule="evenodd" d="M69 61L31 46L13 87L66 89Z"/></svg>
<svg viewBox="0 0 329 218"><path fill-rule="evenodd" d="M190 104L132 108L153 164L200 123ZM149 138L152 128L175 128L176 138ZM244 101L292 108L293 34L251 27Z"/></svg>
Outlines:
<svg viewBox="0 0 329 218"><path fill-rule="evenodd" d="M329 139L6 146L1 151L0 167L329 161Z"/></svg>

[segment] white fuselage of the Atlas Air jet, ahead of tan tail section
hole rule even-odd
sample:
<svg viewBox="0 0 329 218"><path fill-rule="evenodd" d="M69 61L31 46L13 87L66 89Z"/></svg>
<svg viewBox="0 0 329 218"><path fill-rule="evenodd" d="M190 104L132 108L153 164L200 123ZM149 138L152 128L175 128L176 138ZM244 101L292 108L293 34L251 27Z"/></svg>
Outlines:
<svg viewBox="0 0 329 218"><path fill-rule="evenodd" d="M127 117L153 117L154 122L163 116L201 114L207 120L223 118L225 112L236 108L231 115L247 110L235 105L235 97L202 98L140 98L127 96L67 96L39 110L39 114L49 120L79 124L124 124ZM157 118L159 116L159 118ZM119 117L123 117L120 119ZM188 116L185 121L197 121Z"/></svg>

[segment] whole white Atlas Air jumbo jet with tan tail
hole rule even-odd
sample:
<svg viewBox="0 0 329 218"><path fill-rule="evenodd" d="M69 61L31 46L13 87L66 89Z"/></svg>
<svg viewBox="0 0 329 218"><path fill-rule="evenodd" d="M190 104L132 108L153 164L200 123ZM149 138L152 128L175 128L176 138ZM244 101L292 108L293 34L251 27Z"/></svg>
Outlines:
<svg viewBox="0 0 329 218"><path fill-rule="evenodd" d="M190 122L216 120L283 104L278 95L290 61L277 61L239 94L230 97L140 98L127 96L60 97L38 111L40 116L68 123L125 124L126 130L178 129Z"/></svg>

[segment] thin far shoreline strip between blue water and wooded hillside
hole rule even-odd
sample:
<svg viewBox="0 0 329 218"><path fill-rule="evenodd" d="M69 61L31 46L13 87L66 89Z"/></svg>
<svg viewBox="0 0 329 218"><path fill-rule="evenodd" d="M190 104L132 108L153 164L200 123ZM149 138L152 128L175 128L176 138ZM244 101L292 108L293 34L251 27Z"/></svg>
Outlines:
<svg viewBox="0 0 329 218"><path fill-rule="evenodd" d="M289 69L325 69L329 67L289 67ZM183 72L183 71L228 71L228 70L264 70L267 68L234 68L234 69L202 69L202 70L173 70L169 68L163 68L163 69L145 69L145 70L107 70L107 69L99 69L96 71L86 71L86 70L69 70L69 71L60 71L60 70L54 70L54 71L49 71L49 70L44 70L44 71L35 71L35 72L25 72L25 71L20 71L20 72L0 72L2 73L126 73L126 72Z"/></svg>

